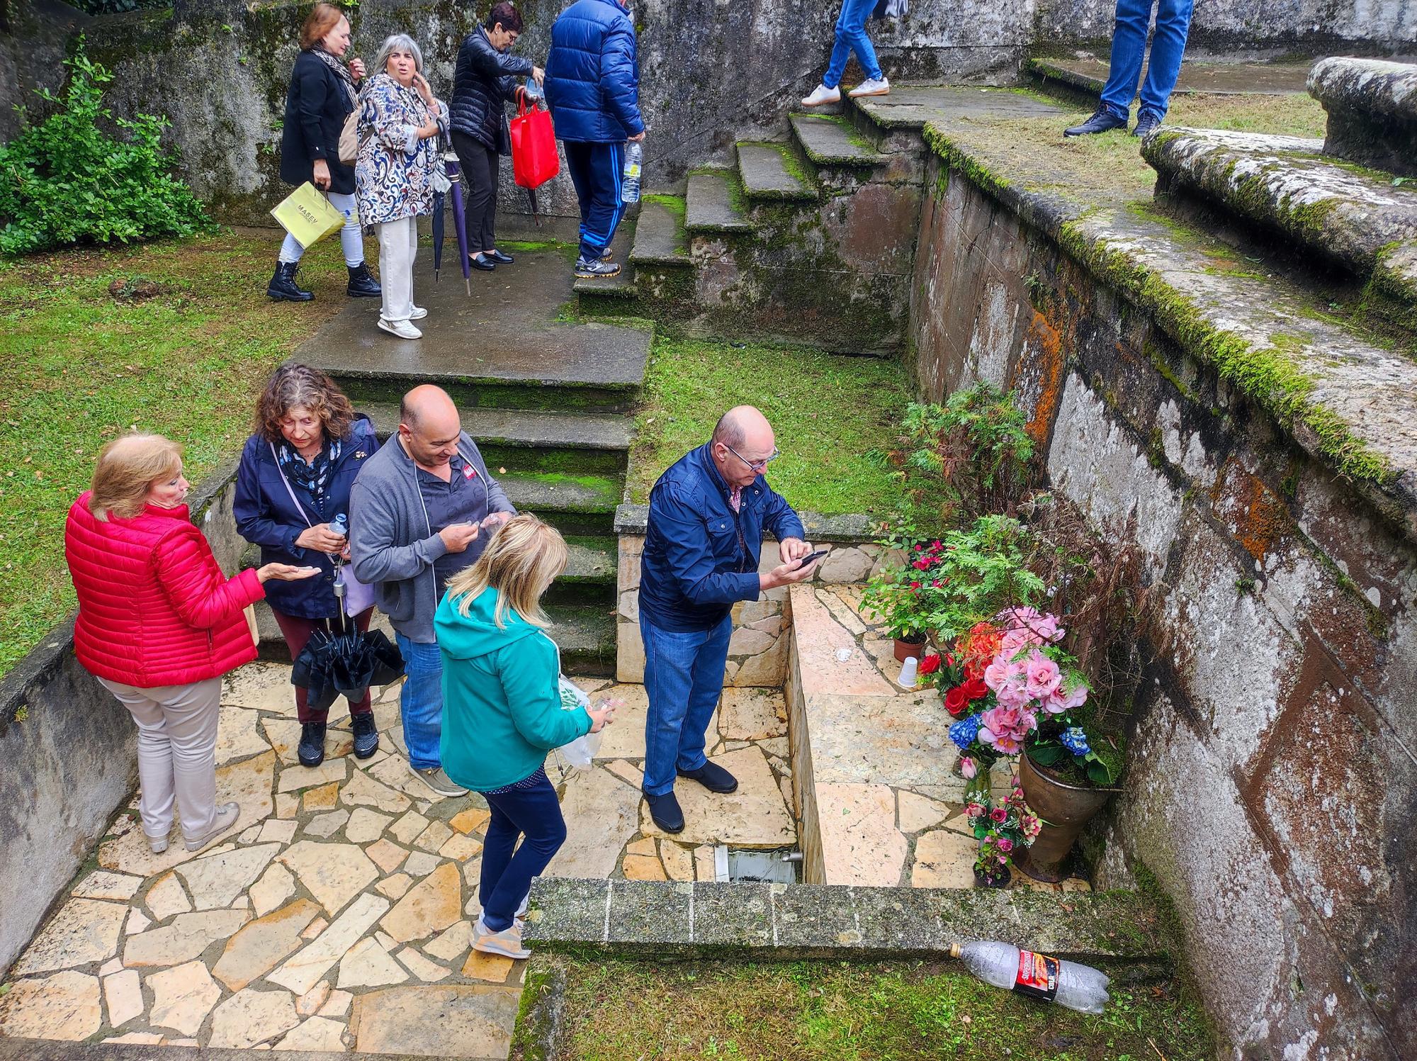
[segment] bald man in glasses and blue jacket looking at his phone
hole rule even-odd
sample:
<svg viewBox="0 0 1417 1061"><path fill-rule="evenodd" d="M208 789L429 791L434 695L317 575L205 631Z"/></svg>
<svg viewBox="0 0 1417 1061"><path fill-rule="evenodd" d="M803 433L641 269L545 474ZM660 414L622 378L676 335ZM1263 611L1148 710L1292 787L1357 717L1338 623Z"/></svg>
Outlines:
<svg viewBox="0 0 1417 1061"><path fill-rule="evenodd" d="M737 779L704 755L723 694L733 606L811 577L818 556L802 521L762 477L778 455L772 426L751 406L723 414L713 438L659 477L649 495L640 560L639 633L645 641L645 800L666 833L684 827L674 779L730 793ZM758 572L764 530L779 565Z"/></svg>

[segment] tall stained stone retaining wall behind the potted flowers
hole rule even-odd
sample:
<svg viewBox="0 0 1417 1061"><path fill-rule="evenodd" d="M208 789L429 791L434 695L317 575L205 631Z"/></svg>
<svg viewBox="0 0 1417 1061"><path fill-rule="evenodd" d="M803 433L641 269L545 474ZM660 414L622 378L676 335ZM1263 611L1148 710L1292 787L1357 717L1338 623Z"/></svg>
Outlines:
<svg viewBox="0 0 1417 1061"><path fill-rule="evenodd" d="M1056 244L935 177L921 390L1015 387L1053 487L1162 586L1098 885L1159 878L1236 1057L1417 1055L1417 549Z"/></svg>

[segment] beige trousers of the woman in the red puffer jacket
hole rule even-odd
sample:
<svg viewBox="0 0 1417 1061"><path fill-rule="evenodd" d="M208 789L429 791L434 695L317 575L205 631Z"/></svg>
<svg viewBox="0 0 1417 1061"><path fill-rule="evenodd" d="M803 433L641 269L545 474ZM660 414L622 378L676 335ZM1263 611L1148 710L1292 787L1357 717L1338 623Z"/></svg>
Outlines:
<svg viewBox="0 0 1417 1061"><path fill-rule="evenodd" d="M167 838L173 830L173 797L181 809L181 831L197 840L217 818L217 719L221 678L190 685L136 685L99 678L137 723L139 813L143 833Z"/></svg>

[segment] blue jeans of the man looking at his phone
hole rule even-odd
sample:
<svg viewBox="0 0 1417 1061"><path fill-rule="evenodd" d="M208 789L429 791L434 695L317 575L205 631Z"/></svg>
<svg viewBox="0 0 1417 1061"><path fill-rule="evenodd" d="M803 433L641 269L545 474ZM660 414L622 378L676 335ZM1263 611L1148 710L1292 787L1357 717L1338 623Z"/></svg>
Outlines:
<svg viewBox="0 0 1417 1061"><path fill-rule="evenodd" d="M713 630L676 634L639 617L645 641L645 794L674 790L674 772L697 770L707 762L704 733L723 694L733 617Z"/></svg>

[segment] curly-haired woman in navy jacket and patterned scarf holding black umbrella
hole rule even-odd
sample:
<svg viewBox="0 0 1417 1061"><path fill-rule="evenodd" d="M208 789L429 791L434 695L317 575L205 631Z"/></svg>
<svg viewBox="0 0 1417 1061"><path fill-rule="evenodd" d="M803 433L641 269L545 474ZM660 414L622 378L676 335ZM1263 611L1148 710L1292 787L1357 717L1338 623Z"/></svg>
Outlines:
<svg viewBox="0 0 1417 1061"><path fill-rule="evenodd" d="M349 536L330 523L349 518L354 477L377 448L368 417L356 414L349 399L317 369L281 366L256 404L256 431L247 440L237 468L237 529L261 546L262 563L322 569L322 574L305 582L266 586L266 600L292 660L316 630L340 628L334 557L349 560ZM368 630L373 611L373 606L363 610L354 624ZM295 704L300 763L319 766L327 712L312 709L299 687ZM350 719L354 755L368 759L378 748L378 731L367 692L350 704Z"/></svg>

